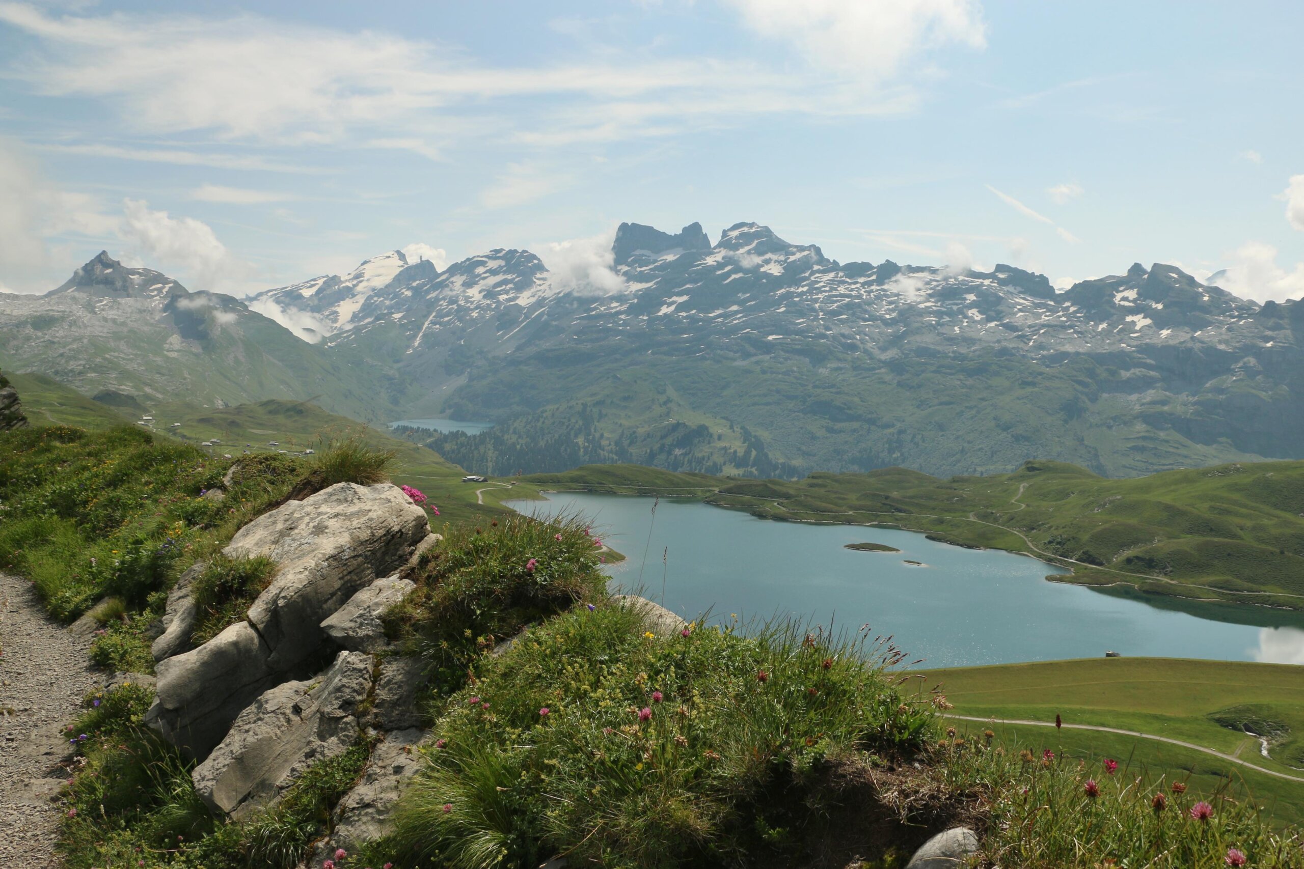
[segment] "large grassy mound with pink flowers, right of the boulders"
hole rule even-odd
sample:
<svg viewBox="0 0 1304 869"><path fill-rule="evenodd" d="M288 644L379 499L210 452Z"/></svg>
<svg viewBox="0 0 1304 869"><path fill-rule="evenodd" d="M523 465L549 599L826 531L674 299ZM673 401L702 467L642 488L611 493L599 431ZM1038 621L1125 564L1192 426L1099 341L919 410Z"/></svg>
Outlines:
<svg viewBox="0 0 1304 869"><path fill-rule="evenodd" d="M906 757L934 734L889 671L896 650L863 636L687 633L580 606L481 658L400 800L389 859L750 864L799 849L831 808L831 767Z"/></svg>

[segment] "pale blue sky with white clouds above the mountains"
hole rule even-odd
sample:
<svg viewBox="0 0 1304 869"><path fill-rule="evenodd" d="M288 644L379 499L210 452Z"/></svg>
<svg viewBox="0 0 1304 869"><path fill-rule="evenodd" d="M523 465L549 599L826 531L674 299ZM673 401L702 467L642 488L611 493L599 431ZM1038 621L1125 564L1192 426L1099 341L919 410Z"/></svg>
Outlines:
<svg viewBox="0 0 1304 869"><path fill-rule="evenodd" d="M604 289L625 220L1304 296L1304 4L0 0L0 289L404 249Z"/></svg>

